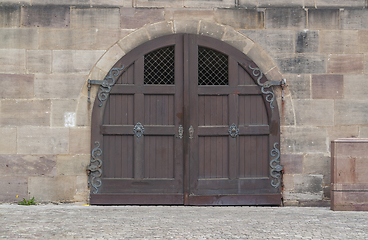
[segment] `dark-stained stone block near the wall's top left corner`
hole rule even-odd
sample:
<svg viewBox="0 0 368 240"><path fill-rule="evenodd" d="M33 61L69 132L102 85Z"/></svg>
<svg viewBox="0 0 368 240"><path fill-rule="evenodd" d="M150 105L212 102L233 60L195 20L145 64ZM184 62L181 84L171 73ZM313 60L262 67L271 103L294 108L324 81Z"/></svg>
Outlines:
<svg viewBox="0 0 368 240"><path fill-rule="evenodd" d="M70 26L69 6L32 6L22 9L22 26L66 28Z"/></svg>

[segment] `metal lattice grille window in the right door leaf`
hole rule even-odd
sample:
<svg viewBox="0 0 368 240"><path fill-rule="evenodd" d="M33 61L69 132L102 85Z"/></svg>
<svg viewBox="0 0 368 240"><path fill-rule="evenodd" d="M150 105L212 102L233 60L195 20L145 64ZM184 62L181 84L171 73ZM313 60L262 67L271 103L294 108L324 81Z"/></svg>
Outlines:
<svg viewBox="0 0 368 240"><path fill-rule="evenodd" d="M198 85L228 84L228 57L213 49L198 47Z"/></svg>

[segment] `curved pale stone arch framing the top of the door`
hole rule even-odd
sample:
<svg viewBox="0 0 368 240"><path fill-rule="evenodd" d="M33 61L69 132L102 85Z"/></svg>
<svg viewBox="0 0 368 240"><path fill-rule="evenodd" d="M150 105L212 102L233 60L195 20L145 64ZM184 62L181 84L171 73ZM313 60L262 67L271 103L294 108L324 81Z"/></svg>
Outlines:
<svg viewBox="0 0 368 240"><path fill-rule="evenodd" d="M163 21L147 24L144 27L137 29L117 41L104 55L101 56L98 62L93 66L88 79L103 80L111 67L135 47L152 39L176 33L204 35L226 42L251 58L266 75L269 81L280 81L282 79L282 75L276 64L267 52L253 40L234 30L230 26L202 20ZM97 86L92 86L90 102L87 104L88 106L86 106L88 98L86 79L77 106L77 121L80 125L90 125L90 114L97 90ZM277 97L279 94L278 91L275 91L275 94ZM277 97L276 99L279 98ZM281 106L281 104L279 104L279 106ZM86 109L88 110L86 111Z"/></svg>

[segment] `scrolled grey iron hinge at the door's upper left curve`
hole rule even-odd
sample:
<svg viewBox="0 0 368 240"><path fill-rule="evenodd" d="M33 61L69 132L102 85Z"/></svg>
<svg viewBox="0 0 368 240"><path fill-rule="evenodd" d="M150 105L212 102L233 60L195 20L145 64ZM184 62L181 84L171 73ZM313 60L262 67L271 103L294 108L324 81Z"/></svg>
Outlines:
<svg viewBox="0 0 368 240"><path fill-rule="evenodd" d="M88 102L90 102L90 91L91 91L91 84L100 85L100 91L97 94L98 100L100 100L99 107L102 106L103 101L107 99L112 87L115 85L118 76L120 75L121 71L124 69L122 65L120 68L111 68L107 76L104 80L90 80L88 79Z"/></svg>

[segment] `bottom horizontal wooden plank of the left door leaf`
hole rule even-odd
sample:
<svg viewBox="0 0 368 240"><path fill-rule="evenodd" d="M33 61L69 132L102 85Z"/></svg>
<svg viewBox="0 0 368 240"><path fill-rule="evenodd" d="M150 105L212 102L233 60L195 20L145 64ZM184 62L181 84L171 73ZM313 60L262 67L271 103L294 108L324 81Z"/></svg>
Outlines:
<svg viewBox="0 0 368 240"><path fill-rule="evenodd" d="M91 194L91 205L183 204L183 194Z"/></svg>

